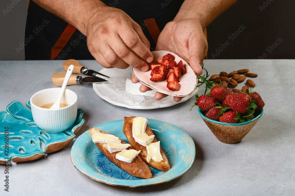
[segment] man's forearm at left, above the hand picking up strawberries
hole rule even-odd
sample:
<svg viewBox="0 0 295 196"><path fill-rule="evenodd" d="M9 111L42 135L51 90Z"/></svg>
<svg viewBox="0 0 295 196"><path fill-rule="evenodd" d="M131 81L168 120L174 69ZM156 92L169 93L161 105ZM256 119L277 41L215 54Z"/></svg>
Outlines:
<svg viewBox="0 0 295 196"><path fill-rule="evenodd" d="M106 5L99 0L33 0L42 8L59 16L86 35L85 23L103 12ZM97 16L96 16L97 17Z"/></svg>

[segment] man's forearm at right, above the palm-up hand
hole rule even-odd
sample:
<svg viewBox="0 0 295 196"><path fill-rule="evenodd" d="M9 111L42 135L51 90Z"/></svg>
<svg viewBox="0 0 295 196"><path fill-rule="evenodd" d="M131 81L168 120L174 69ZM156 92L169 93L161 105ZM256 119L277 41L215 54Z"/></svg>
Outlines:
<svg viewBox="0 0 295 196"><path fill-rule="evenodd" d="M185 0L175 17L178 19L199 19L203 28L237 0Z"/></svg>

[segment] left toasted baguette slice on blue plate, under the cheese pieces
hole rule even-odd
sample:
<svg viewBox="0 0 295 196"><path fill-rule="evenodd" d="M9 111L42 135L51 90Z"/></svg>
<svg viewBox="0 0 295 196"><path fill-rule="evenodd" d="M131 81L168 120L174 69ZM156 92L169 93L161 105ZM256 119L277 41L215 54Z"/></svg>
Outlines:
<svg viewBox="0 0 295 196"><path fill-rule="evenodd" d="M94 133L103 133L103 134L109 134L102 130L96 129L96 128L90 128L89 129L90 136L92 138ZM122 144L126 144L126 142L121 140ZM142 178L152 178L152 173L150 171L150 168L148 165L142 161L139 155L135 157L131 163L126 163L124 161L116 159L116 154L120 151L110 153L107 149L107 143L96 143L96 146L101 150L101 152L106 156L109 161L117 165L120 169L124 170L125 172L135 176L135 177L142 177ZM126 148L127 150L132 149L131 147Z"/></svg>

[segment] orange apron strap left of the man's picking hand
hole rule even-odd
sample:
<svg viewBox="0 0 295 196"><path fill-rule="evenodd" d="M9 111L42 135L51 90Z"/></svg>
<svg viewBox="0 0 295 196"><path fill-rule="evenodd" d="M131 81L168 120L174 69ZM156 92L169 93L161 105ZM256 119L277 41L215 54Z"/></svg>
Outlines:
<svg viewBox="0 0 295 196"><path fill-rule="evenodd" d="M67 44L68 41L70 40L75 30L76 30L76 27L74 27L71 24L68 24L68 26L65 28L61 36L58 38L58 41L56 41L54 46L51 48L50 60L53 60L55 59L55 57L58 56L61 50L65 47L65 44Z"/></svg>

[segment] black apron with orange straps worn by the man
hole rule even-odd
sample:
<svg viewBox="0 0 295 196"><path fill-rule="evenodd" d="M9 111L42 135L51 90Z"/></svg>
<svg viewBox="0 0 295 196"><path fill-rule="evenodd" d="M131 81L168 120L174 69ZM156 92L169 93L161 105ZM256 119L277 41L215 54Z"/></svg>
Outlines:
<svg viewBox="0 0 295 196"><path fill-rule="evenodd" d="M149 33L145 20L154 19L161 31L174 19L183 1L109 0L104 3L122 9L137 22L150 41L150 49L153 51L155 39ZM24 48L25 60L94 59L87 48L86 36L33 1L30 1L28 7Z"/></svg>

